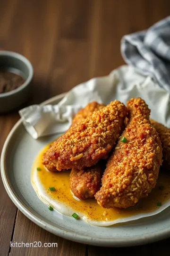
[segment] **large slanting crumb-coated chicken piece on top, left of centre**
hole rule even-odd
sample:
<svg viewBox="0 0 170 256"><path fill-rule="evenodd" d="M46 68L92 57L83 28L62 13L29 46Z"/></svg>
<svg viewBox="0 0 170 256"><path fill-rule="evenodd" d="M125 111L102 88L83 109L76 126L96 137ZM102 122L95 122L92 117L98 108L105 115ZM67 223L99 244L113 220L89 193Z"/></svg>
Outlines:
<svg viewBox="0 0 170 256"><path fill-rule="evenodd" d="M78 170L95 165L106 158L119 137L127 114L125 105L112 101L102 110L76 124L48 150L48 160L58 170Z"/></svg>

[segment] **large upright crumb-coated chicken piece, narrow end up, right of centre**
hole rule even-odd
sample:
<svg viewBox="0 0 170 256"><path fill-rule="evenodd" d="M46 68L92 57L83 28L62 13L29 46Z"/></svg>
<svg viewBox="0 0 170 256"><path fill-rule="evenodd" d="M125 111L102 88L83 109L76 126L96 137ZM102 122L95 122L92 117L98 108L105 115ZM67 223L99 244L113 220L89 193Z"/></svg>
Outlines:
<svg viewBox="0 0 170 256"><path fill-rule="evenodd" d="M135 206L155 187L162 162L161 140L150 123L144 100L127 101L127 110L129 122L108 160L102 187L95 194L104 208Z"/></svg>

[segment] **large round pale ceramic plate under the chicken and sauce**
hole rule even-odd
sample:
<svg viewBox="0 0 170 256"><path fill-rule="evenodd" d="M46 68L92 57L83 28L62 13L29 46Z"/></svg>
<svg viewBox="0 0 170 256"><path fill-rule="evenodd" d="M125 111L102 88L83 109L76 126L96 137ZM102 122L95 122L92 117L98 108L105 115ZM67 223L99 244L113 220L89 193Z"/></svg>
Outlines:
<svg viewBox="0 0 170 256"><path fill-rule="evenodd" d="M56 104L64 94L43 104ZM56 136L34 140L21 120L10 131L1 154L1 176L9 197L26 217L38 226L72 241L108 247L134 246L170 236L170 208L160 214L137 221L97 227L49 211L31 185L31 169L35 155Z"/></svg>

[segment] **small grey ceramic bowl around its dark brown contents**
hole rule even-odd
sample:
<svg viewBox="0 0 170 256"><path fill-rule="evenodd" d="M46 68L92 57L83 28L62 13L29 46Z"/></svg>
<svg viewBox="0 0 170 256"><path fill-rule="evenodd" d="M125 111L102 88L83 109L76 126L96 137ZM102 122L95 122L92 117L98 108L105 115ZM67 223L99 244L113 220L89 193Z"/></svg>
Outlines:
<svg viewBox="0 0 170 256"><path fill-rule="evenodd" d="M17 89L0 93L0 113L4 113L16 109L28 99L34 72L26 57L9 51L0 51L0 69L20 74L25 79Z"/></svg>

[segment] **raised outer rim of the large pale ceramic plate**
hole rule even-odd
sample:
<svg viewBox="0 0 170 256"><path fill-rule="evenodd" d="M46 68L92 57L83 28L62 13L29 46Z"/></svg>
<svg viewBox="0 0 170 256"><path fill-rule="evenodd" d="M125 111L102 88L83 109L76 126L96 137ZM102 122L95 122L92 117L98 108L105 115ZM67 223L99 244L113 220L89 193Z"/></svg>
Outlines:
<svg viewBox="0 0 170 256"><path fill-rule="evenodd" d="M51 104L53 101L61 100L66 93L62 93L59 95L56 95L46 101L43 101L41 105ZM126 246L136 246L136 245L143 245L148 244L151 242L156 242L158 240L168 238L170 237L170 228L163 229L158 232L154 232L153 234L147 235L147 233L141 237L134 237L134 238L93 238L93 237L87 237L84 235L76 234L75 232L67 231L65 229L61 229L58 227L52 226L50 223L42 220L40 217L38 217L34 212L32 212L30 209L26 207L20 201L20 199L17 197L17 195L13 192L12 188L10 187L10 183L8 182L8 177L6 175L5 170L5 157L6 157L6 151L8 147L8 143L10 142L10 139L13 137L13 134L17 130L17 128L22 124L22 120L19 119L17 123L14 125L14 127L9 132L5 143L2 148L1 157L0 157L0 173L3 185L5 187L6 192L8 193L9 198L13 201L13 203L17 206L17 208L31 221L33 221L36 225L41 227L42 229L45 229L54 235L57 235L59 237L83 243L88 245L94 245L94 246L107 246L107 247L126 247Z"/></svg>

